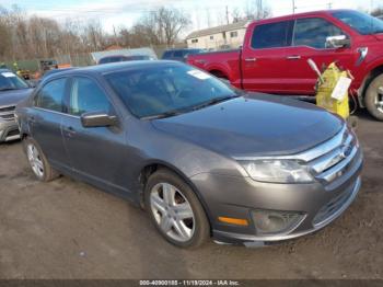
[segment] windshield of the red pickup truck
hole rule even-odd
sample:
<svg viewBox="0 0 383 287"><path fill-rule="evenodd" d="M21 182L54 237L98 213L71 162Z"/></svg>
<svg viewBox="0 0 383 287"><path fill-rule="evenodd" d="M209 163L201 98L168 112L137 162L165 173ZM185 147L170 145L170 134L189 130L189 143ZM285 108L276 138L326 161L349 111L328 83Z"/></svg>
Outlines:
<svg viewBox="0 0 383 287"><path fill-rule="evenodd" d="M383 21L358 11L337 11L333 15L356 30L359 34L383 33Z"/></svg>

